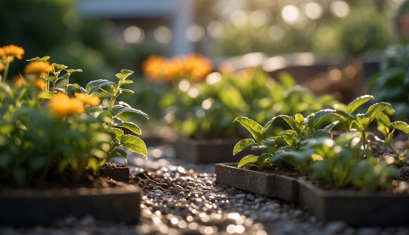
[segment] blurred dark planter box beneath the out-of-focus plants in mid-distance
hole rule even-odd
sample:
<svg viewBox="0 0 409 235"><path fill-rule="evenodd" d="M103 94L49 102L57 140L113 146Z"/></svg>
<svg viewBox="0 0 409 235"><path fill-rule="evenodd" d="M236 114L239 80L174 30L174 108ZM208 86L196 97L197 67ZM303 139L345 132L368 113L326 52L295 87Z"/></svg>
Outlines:
<svg viewBox="0 0 409 235"><path fill-rule="evenodd" d="M245 155L254 154L251 149L233 155L234 145L241 139L192 140L180 139L174 143L178 157L193 163L237 162Z"/></svg>

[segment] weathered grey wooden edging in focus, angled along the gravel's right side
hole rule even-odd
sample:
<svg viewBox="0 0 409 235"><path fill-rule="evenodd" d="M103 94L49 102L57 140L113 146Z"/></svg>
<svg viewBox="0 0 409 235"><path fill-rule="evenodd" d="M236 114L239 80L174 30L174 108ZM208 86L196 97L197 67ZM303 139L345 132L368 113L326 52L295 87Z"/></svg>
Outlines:
<svg viewBox="0 0 409 235"><path fill-rule="evenodd" d="M237 164L216 164L216 182L266 197L276 197L293 203L298 202L297 178L242 169L238 168Z"/></svg>

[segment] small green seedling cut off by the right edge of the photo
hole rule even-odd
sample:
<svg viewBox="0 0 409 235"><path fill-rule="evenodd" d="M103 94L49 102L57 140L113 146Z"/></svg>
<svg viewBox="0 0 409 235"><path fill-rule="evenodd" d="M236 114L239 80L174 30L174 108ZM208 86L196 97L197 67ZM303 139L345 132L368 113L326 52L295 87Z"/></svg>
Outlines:
<svg viewBox="0 0 409 235"><path fill-rule="evenodd" d="M379 137L375 137L375 139L386 144L392 151L392 153L384 153L384 155L392 156L395 159L394 164L402 167L403 161L409 157L409 149L406 149L403 153L399 153L392 144L392 138L396 130L400 130L406 134L409 134L409 125L403 121L391 122L388 115L384 113L379 113L379 115L376 117L376 121L378 123L378 131L380 131L382 135L384 135L385 140L382 140Z"/></svg>

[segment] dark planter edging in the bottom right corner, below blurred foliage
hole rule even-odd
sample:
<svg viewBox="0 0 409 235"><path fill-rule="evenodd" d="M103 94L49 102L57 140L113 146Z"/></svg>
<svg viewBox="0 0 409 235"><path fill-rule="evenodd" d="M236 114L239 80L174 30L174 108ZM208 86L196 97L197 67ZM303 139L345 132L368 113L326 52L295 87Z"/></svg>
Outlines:
<svg viewBox="0 0 409 235"><path fill-rule="evenodd" d="M342 220L351 226L407 226L407 193L324 190L299 180L299 204L323 222Z"/></svg>

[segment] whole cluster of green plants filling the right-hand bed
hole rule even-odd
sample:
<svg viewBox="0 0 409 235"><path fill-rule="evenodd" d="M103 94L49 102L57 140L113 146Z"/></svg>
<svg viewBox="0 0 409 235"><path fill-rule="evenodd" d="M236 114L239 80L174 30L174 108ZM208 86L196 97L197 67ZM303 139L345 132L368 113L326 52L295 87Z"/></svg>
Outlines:
<svg viewBox="0 0 409 235"><path fill-rule="evenodd" d="M402 166L408 150L400 153L391 145L393 133L396 130L409 133L406 122L390 122L389 117L382 113L389 107L389 103L380 102L369 106L366 113L354 114L362 104L373 99L371 95L356 98L348 105L336 105L336 109L324 109L303 117L297 114L294 117L278 115L264 126L247 118L238 117L235 121L244 126L253 136L253 139L244 139L234 148L234 154L243 149L263 149L265 153L259 156L247 155L243 157L238 167L246 164L256 166L261 171L268 165L281 169L287 165L288 171L297 171L301 174L310 173L310 179L323 179L334 188L356 187L363 191L374 191L379 188L391 187L390 178L398 176L398 170L389 164ZM392 109L393 110L393 109ZM331 115L334 122L322 126L320 120ZM269 137L267 129L273 127L277 118L283 118L290 129L279 135ZM394 161L382 161L382 156L375 156L371 149L377 146L367 137L373 135L367 127L373 120L378 121L378 129L384 135L384 140L376 136L379 143L389 146ZM331 129L339 123L344 123L347 131L339 137L332 138ZM319 129L319 126L322 129ZM380 159L378 159L380 158Z"/></svg>

